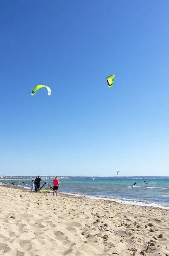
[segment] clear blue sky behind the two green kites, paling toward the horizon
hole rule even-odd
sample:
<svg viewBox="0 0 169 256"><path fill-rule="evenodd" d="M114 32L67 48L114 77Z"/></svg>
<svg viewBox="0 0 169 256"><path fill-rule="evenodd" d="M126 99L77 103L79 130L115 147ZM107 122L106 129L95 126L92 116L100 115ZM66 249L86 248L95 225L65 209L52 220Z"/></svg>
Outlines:
<svg viewBox="0 0 169 256"><path fill-rule="evenodd" d="M169 1L1 0L0 88L0 175L168 176Z"/></svg>

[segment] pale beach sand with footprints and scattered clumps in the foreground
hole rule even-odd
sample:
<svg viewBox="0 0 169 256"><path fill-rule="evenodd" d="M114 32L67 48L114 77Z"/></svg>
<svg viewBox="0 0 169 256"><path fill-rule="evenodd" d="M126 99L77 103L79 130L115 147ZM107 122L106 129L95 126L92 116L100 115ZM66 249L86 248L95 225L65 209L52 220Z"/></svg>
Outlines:
<svg viewBox="0 0 169 256"><path fill-rule="evenodd" d="M0 186L0 255L169 256L169 211Z"/></svg>

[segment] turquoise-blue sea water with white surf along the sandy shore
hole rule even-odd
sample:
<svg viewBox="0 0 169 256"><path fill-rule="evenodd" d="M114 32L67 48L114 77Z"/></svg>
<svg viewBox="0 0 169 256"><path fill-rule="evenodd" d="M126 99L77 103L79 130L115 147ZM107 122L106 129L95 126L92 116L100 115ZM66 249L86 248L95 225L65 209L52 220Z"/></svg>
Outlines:
<svg viewBox="0 0 169 256"><path fill-rule="evenodd" d="M11 177L11 180L3 179L0 183L11 185L14 181L15 186L30 189L34 178L28 178L23 180ZM53 186L48 177L42 179L41 186L45 181ZM169 209L169 177L66 177L59 178L59 181L61 193ZM135 181L137 184L132 188Z"/></svg>

